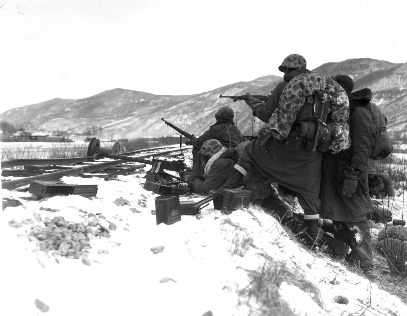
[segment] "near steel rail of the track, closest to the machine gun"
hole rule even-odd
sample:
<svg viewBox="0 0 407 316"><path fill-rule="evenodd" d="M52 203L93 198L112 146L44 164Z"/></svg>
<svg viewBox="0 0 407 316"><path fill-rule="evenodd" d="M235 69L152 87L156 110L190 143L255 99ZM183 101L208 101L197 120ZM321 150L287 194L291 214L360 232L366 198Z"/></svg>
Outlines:
<svg viewBox="0 0 407 316"><path fill-rule="evenodd" d="M162 148L162 147L160 147ZM152 150L153 148L149 148L148 150ZM168 153L174 153L179 151L180 149L173 149L173 150L166 150L166 151L162 151L162 152L158 152L155 153L156 155L165 155ZM144 150L140 150L141 151L146 151ZM147 155L142 155L139 157L135 157L135 158L148 158L153 156L153 154L149 153ZM28 185L31 183L31 181L35 181L35 180L59 180L61 179L61 177L63 176L74 176L74 175L78 175L78 174L83 174L83 173L89 173L89 172L93 172L93 171L97 171L97 170L103 170L106 168L109 168L110 166L115 166L115 165L119 165L120 163L124 163L127 162L125 160L119 159L119 160L113 160L113 161L105 161L102 163L95 163L95 164L91 164L91 165L86 165L86 166L80 166L77 168L72 168L72 169L68 169L68 170L61 170L61 171L55 171L55 172L50 172L47 174L39 174L37 176L32 176L32 177L26 177L24 179L16 179L16 180L10 180L10 181L2 181L1 186L2 189L7 189L7 190L13 190L17 187L21 187L23 185Z"/></svg>

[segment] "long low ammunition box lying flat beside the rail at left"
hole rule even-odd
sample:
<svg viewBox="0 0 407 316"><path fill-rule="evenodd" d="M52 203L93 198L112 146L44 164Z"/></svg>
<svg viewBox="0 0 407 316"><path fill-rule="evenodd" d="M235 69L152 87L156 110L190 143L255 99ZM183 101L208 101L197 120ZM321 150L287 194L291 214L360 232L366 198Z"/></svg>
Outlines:
<svg viewBox="0 0 407 316"><path fill-rule="evenodd" d="M43 198L63 194L77 194L81 196L95 196L98 192L97 184L72 185L61 181L32 181L28 192Z"/></svg>

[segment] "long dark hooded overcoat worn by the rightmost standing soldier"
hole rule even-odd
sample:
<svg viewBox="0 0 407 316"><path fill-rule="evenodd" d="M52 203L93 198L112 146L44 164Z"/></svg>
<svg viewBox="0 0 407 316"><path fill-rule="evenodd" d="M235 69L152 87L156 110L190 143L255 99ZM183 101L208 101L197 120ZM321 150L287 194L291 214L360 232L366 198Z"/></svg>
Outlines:
<svg viewBox="0 0 407 316"><path fill-rule="evenodd" d="M372 98L372 92L369 89L362 90L352 93L350 98L348 123L352 146L336 154L324 153L323 158L319 213L322 218L338 222L361 222L372 211L368 192L368 164L376 126L370 111L365 108ZM351 197L342 194L344 172L348 166L363 173Z"/></svg>

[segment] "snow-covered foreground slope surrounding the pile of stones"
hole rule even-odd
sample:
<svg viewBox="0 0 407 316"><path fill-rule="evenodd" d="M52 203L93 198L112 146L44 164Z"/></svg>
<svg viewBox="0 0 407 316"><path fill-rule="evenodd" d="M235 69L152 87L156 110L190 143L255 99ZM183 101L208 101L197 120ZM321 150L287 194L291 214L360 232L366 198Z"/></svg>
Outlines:
<svg viewBox="0 0 407 316"><path fill-rule="evenodd" d="M198 216L156 225L158 195L144 190L143 177L61 179L98 185L92 198L27 200L28 192L3 189L22 205L0 212L0 314L275 315L277 302L285 309L276 315L407 315L396 296L307 251L257 207L225 215L211 203ZM403 198L392 200L394 218ZM66 249L46 253L33 238L56 216L88 226L91 248L78 259L61 256Z"/></svg>

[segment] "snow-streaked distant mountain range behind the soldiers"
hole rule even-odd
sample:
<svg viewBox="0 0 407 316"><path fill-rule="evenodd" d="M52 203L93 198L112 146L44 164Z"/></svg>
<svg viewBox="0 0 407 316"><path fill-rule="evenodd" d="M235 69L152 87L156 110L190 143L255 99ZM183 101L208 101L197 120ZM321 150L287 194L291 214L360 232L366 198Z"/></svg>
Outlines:
<svg viewBox="0 0 407 316"><path fill-rule="evenodd" d="M388 129L403 133L407 127L407 63L390 63L375 59L348 59L325 63L314 71L328 76L347 74L355 81L355 90L368 87L373 102L387 116ZM282 81L279 76L265 76L253 81L242 81L201 94L186 96L154 95L125 89L113 89L72 100L55 98L6 111L0 120L15 126L43 131L66 131L81 134L97 127L93 134L101 139L161 137L177 134L160 118L179 126L188 133L200 135L214 123L219 107L229 105L235 111L237 126L244 135L256 134L265 125L243 101L233 102L219 95L269 95Z"/></svg>

